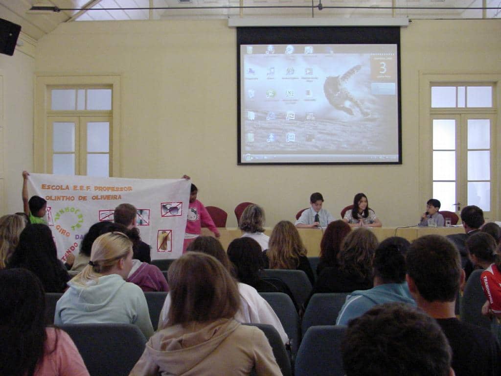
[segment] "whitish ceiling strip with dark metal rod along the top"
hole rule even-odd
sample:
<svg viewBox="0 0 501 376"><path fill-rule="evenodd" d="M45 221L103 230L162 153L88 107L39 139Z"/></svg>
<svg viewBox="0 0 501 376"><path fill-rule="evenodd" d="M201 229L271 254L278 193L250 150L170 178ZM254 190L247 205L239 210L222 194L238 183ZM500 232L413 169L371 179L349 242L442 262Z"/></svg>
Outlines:
<svg viewBox="0 0 501 376"><path fill-rule="evenodd" d="M320 1L323 6L322 10L318 9ZM62 11L57 13L30 12L29 10L34 4L56 6ZM250 8L240 10L236 8L239 6ZM230 9L231 7L233 9ZM138 8L157 9L150 11ZM79 9L86 10L80 11ZM0 18L21 25L25 34L37 40L63 22L239 16L271 18L501 18L501 0L313 0L313 2L312 0L0 0Z"/></svg>

